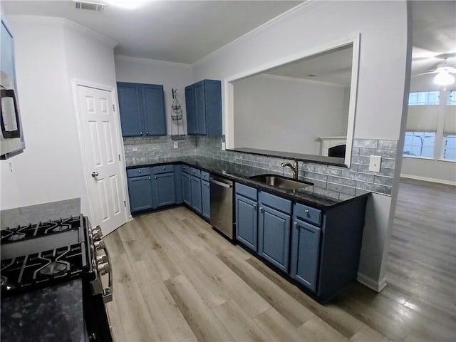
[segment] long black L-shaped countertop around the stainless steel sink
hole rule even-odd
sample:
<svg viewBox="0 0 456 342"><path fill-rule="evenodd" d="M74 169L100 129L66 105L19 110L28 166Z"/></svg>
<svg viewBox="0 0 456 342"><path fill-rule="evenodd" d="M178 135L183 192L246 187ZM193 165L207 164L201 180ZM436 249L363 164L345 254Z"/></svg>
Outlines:
<svg viewBox="0 0 456 342"><path fill-rule="evenodd" d="M276 172L271 172L270 170L264 170L258 167L252 167L248 165L242 165L235 162L227 162L219 159L212 159L207 157L163 157L157 160L154 160L153 163L147 165L128 165L127 169L132 169L135 167L150 167L155 165L163 164L178 164L183 163L189 166L198 167L204 171L207 171L213 175L219 175L226 177L229 180L234 182L239 182L244 185L249 185L251 187L257 187L259 190L265 190L275 195L285 197L303 204L309 204L313 207L325 210L331 207L338 206L342 203L350 202L353 199L365 197L368 195L361 195L358 197L353 197L352 199L336 199L332 197L326 197L314 193L314 187L306 187L299 190L285 190L278 187L272 187L265 185L264 183L257 182L255 180L250 180L249 177L254 175L264 175L264 174L277 174ZM279 175L279 174L277 174Z"/></svg>

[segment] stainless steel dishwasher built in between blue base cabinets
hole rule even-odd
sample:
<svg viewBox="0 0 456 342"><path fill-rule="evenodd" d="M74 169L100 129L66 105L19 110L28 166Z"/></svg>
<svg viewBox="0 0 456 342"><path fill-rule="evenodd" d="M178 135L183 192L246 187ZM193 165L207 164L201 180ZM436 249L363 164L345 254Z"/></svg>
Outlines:
<svg viewBox="0 0 456 342"><path fill-rule="evenodd" d="M229 239L233 234L233 182L222 177L211 176L211 219L212 227Z"/></svg>

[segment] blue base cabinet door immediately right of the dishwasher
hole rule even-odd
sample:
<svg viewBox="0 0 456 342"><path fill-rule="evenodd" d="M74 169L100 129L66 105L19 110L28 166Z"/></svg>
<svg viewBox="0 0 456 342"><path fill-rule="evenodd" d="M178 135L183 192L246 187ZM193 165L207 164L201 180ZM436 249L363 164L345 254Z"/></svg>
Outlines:
<svg viewBox="0 0 456 342"><path fill-rule="evenodd" d="M236 227L237 241L258 252L257 201L236 195Z"/></svg>

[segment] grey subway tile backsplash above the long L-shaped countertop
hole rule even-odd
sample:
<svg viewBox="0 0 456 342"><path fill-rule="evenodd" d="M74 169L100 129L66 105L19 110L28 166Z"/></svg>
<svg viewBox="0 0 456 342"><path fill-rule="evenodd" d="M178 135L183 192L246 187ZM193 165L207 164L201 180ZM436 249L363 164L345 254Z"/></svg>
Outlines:
<svg viewBox="0 0 456 342"><path fill-rule="evenodd" d="M292 176L289 167L280 166L284 158L223 151L222 139L187 135L175 149L170 136L124 138L125 159L127 165L140 165L152 163L163 156L198 155ZM397 143L397 140L354 139L350 168L299 162L299 179L317 185L314 187L316 193L338 199L349 199L365 192L391 195ZM368 170L371 155L382 157L380 172Z"/></svg>

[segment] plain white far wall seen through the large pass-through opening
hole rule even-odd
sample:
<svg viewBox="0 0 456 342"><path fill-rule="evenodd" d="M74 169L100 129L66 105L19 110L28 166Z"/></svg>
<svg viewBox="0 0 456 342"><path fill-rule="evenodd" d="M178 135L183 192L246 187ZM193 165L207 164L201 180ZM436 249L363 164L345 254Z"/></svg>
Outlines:
<svg viewBox="0 0 456 342"><path fill-rule="evenodd" d="M319 155L317 138L347 134L346 95L342 86L279 76L236 81L234 146Z"/></svg>

